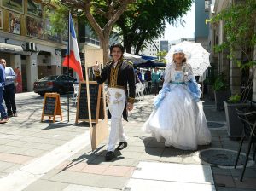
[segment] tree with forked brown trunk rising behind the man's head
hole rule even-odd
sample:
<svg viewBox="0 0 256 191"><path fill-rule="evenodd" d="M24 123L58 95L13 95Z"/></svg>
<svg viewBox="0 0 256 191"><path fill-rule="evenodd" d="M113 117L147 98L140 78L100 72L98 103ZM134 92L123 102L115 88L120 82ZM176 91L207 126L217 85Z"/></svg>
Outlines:
<svg viewBox="0 0 256 191"><path fill-rule="evenodd" d="M94 29L100 40L100 47L103 49L103 61L106 63L108 61L109 36L113 25L126 9L133 9L133 4L139 1L140 0L55 0L55 3L58 3L60 6L64 5L66 9L71 10L73 13L86 16L90 26ZM58 20L57 22L59 23L60 21Z"/></svg>

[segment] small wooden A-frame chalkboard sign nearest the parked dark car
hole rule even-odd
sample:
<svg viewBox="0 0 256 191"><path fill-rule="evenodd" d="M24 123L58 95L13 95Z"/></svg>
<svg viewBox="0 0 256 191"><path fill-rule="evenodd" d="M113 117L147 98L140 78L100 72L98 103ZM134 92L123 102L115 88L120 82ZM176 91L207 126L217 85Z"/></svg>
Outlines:
<svg viewBox="0 0 256 191"><path fill-rule="evenodd" d="M60 94L45 93L41 122L44 120L44 116L49 116L49 120L53 117L53 122L55 123L56 115L60 115L62 121Z"/></svg>

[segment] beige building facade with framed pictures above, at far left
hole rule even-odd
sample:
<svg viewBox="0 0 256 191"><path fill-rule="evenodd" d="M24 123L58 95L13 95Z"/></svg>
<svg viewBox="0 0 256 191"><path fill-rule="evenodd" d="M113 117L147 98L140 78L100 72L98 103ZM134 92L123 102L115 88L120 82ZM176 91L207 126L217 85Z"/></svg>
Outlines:
<svg viewBox="0 0 256 191"><path fill-rule="evenodd" d="M9 67L20 70L23 91L32 91L38 78L62 72L65 36L51 31L49 17L44 14L54 9L32 0L1 1L0 57Z"/></svg>

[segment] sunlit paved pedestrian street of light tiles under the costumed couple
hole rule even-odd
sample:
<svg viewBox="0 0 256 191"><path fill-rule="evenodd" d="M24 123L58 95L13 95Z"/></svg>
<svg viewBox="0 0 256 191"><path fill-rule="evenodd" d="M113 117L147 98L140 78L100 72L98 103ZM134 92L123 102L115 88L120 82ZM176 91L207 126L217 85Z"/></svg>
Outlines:
<svg viewBox="0 0 256 191"><path fill-rule="evenodd" d="M104 161L106 142L90 149L89 128L74 124L75 107L70 104L67 122L67 97L61 96L63 121L41 123L44 98L32 92L16 95L18 117L0 125L0 190L2 191L117 191L117 190L256 190L256 165L249 161L244 182L239 182L241 167L220 168L199 157L201 150L223 148L236 151L230 141L224 112L217 112L213 101L201 107L207 121L218 122L211 129L212 144L197 151L165 148L164 142L143 133L141 127L152 111L153 96L135 103L129 123L124 122L128 147L116 152L117 159ZM247 144L242 152L245 153Z"/></svg>

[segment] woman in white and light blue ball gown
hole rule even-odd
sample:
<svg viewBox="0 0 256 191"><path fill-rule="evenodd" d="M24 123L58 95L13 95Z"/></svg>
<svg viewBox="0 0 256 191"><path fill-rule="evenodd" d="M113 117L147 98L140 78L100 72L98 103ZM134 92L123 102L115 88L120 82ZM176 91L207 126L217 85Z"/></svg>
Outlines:
<svg viewBox="0 0 256 191"><path fill-rule="evenodd" d="M211 133L200 101L200 85L186 63L183 49L176 49L173 61L166 66L165 82L154 100L154 111L143 130L158 142L165 138L167 147L195 150L211 142Z"/></svg>

